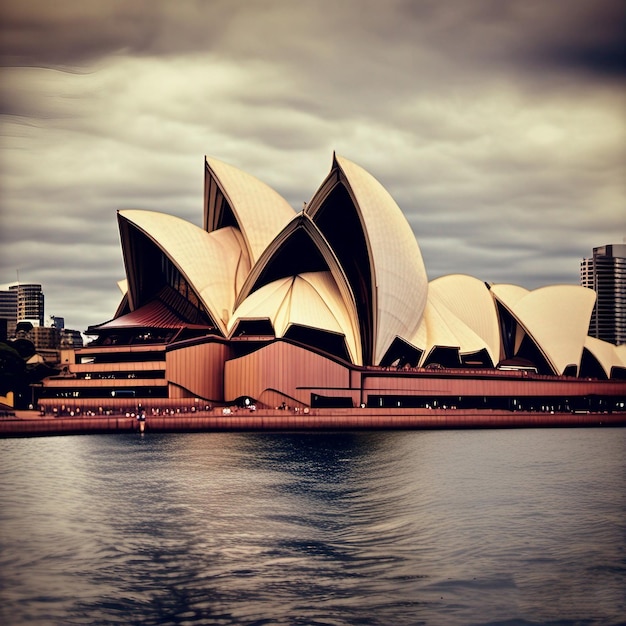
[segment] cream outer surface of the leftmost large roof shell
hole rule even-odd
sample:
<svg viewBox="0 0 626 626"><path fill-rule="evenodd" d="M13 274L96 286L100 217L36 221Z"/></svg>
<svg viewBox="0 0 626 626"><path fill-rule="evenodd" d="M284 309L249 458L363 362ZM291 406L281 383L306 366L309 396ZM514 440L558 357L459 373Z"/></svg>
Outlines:
<svg viewBox="0 0 626 626"><path fill-rule="evenodd" d="M119 214L174 263L226 334L236 293L250 271L241 233L232 227L207 233L183 219L155 211L124 210Z"/></svg>

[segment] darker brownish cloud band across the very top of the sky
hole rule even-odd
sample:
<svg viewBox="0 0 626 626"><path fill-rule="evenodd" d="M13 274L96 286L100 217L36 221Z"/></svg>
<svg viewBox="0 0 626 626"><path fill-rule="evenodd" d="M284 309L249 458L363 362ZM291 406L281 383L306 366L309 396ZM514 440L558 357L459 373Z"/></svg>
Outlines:
<svg viewBox="0 0 626 626"><path fill-rule="evenodd" d="M572 0L566 7L540 0L298 4L294 11L285 0L3 0L0 54L4 65L79 69L117 54L217 51L285 64L319 59L326 69L328 56L350 51L335 59L337 67L349 69L367 55L375 76L438 57L470 71L468 61L479 60L624 73L621 0Z"/></svg>

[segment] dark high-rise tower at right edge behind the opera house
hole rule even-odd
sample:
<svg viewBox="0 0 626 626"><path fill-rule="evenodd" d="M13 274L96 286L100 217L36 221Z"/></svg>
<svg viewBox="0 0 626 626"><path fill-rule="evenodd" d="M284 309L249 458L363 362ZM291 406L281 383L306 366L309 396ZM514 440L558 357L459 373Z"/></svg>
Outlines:
<svg viewBox="0 0 626 626"><path fill-rule="evenodd" d="M580 284L596 292L589 334L616 345L626 343L626 244L594 248L580 263Z"/></svg>

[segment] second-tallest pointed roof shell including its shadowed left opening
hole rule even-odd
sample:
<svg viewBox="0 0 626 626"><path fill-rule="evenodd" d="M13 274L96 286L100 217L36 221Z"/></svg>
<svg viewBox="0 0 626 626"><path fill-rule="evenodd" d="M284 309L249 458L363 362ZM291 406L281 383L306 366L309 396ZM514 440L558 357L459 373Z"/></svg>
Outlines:
<svg viewBox="0 0 626 626"><path fill-rule="evenodd" d="M213 158L205 158L205 163L204 228L208 232L224 225L239 228L255 263L295 211L251 174Z"/></svg>

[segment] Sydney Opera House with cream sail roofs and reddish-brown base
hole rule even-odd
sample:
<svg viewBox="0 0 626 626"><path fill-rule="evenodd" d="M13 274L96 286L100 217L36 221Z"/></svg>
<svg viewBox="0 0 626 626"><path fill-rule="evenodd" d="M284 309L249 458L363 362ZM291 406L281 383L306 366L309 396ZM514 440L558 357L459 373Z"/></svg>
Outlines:
<svg viewBox="0 0 626 626"><path fill-rule="evenodd" d="M594 291L429 282L396 202L340 156L300 212L206 159L202 227L144 210L118 222L121 303L64 354L46 402L611 410L624 399L626 345L587 334Z"/></svg>

